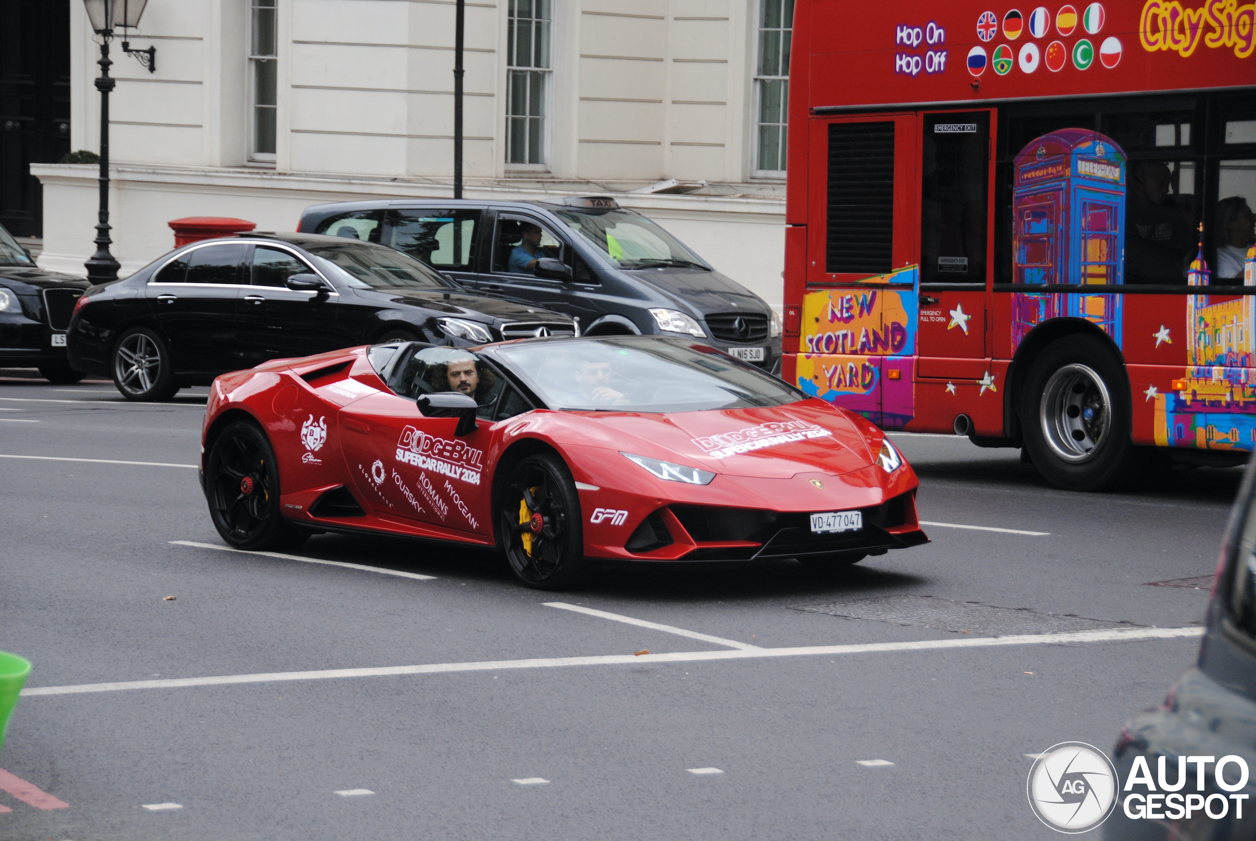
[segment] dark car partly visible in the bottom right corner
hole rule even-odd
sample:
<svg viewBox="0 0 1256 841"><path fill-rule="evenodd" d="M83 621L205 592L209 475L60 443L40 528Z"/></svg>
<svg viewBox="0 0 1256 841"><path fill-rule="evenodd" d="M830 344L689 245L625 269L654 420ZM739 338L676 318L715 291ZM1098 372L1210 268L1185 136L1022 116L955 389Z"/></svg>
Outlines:
<svg viewBox="0 0 1256 841"><path fill-rule="evenodd" d="M1256 838L1256 461L1217 569L1196 665L1117 741L1109 841Z"/></svg>

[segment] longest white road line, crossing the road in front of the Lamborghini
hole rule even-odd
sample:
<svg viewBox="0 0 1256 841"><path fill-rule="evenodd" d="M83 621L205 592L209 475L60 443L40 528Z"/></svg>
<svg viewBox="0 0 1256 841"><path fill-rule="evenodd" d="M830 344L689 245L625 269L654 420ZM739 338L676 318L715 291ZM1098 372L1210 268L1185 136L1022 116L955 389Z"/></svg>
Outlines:
<svg viewBox="0 0 1256 841"><path fill-rule="evenodd" d="M210 678L166 678L162 680L123 680L83 683L68 687L28 687L21 697L79 695L92 692L129 689L180 689L221 687L240 683L279 680L328 680L335 678L386 678L408 674L450 674L456 672L504 672L506 669L554 669L577 665L641 665L642 663L700 663L705 660L757 660L779 656L833 656L835 654L887 654L892 651L934 651L956 648L1001 648L1005 645L1079 645L1084 643L1129 643L1152 639L1203 636L1198 625L1188 628L1120 628L1114 630L1069 631L1066 634L1020 634L1016 636L962 636L903 643L862 643L852 645L811 645L804 648L760 648L734 651L671 651L668 654L604 654L593 656L555 656L533 660L481 660L472 663L427 663L423 665L384 665L364 669L323 669L318 672L269 672L225 674Z"/></svg>

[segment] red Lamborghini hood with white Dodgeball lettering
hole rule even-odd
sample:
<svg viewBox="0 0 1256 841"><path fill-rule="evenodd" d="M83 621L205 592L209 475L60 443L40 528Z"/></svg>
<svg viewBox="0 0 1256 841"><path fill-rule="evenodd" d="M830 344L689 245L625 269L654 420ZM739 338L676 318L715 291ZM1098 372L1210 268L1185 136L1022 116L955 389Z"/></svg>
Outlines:
<svg viewBox="0 0 1256 841"><path fill-rule="evenodd" d="M816 399L755 409L564 414L579 418L582 443L730 476L842 476L873 463L864 432Z"/></svg>

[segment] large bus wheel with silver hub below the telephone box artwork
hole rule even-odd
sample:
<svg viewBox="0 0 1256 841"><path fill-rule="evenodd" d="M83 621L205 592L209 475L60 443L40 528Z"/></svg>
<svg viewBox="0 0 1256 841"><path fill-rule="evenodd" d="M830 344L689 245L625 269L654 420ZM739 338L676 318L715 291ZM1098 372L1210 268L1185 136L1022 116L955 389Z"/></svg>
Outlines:
<svg viewBox="0 0 1256 841"><path fill-rule="evenodd" d="M1069 491L1119 482L1130 467L1130 409L1112 351L1090 336L1049 345L1020 395L1025 448L1042 477Z"/></svg>

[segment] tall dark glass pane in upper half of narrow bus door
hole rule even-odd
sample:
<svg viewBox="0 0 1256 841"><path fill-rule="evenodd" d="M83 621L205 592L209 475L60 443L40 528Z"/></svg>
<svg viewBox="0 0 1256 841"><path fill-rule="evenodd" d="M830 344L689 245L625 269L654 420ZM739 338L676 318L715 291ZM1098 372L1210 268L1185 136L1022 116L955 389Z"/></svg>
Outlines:
<svg viewBox="0 0 1256 841"><path fill-rule="evenodd" d="M986 279L990 112L927 114L921 176L921 281Z"/></svg>

